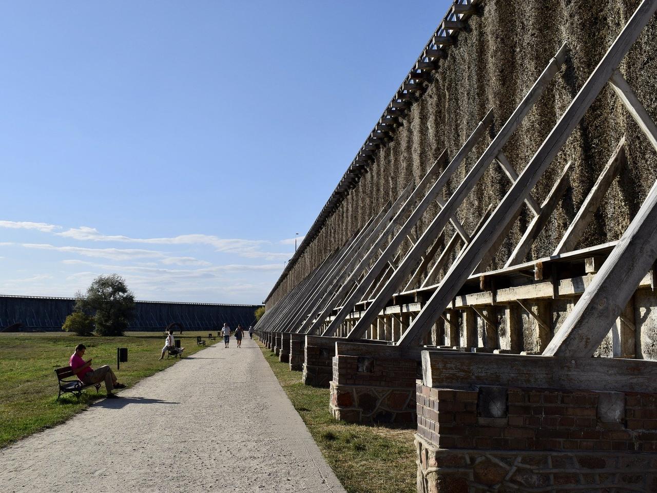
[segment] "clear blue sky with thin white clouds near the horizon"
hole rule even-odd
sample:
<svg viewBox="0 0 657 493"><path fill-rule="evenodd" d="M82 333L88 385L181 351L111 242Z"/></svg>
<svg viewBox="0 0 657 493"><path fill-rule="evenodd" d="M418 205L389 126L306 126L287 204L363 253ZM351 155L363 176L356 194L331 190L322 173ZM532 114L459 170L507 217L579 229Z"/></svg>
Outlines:
<svg viewBox="0 0 657 493"><path fill-rule="evenodd" d="M0 2L0 294L261 302L448 5Z"/></svg>

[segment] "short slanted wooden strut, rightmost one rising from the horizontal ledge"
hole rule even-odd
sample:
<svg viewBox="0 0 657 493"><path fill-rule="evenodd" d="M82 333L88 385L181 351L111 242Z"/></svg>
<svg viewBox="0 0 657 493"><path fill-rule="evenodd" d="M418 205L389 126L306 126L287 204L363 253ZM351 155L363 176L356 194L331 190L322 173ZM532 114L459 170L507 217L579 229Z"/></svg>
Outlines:
<svg viewBox="0 0 657 493"><path fill-rule="evenodd" d="M622 137L611 158L608 160L604 168L602 168L602 172L600 172L600 176L598 176L591 191L589 191L589 195L587 195L584 202L582 202L578 213L573 218L566 233L564 233L564 236L555 248L555 255L570 252L575 249L584 234L586 227L593 219L593 214L595 214L595 211L600 207L602 199L604 199L604 194L611 186L614 178L616 178L626 164L625 137Z"/></svg>

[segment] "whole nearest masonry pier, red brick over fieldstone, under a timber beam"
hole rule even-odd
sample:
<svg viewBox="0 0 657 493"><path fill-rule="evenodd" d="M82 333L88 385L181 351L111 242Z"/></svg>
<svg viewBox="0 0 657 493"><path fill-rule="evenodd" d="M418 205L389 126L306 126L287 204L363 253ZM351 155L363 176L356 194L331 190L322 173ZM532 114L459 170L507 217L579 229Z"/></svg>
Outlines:
<svg viewBox="0 0 657 493"><path fill-rule="evenodd" d="M657 491L657 394L418 385L417 421L420 493Z"/></svg>

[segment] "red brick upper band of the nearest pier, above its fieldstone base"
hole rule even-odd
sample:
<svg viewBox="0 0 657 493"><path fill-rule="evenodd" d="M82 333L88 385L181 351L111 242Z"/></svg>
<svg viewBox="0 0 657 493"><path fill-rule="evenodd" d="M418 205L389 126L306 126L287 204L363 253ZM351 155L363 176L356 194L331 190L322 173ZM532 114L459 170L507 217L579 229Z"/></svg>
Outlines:
<svg viewBox="0 0 657 493"><path fill-rule="evenodd" d="M508 388L506 416L490 418L478 413L476 389L418 385L418 434L439 448L657 452L657 394L616 392L624 409L615 422L600 415L603 394Z"/></svg>

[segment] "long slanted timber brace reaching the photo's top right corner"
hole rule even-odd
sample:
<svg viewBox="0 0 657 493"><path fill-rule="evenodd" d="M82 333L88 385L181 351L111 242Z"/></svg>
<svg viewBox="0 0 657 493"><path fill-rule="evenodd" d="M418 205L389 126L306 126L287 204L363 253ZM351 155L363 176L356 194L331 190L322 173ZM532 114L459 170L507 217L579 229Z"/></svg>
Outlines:
<svg viewBox="0 0 657 493"><path fill-rule="evenodd" d="M510 218L516 214L527 194L533 189L541 176L543 176L543 172L545 172L547 166L555 159L562 145L564 145L572 131L578 126L581 118L583 118L585 112L591 106L591 103L597 98L602 87L608 82L616 67L618 67L623 57L625 57L625 53L627 53L631 45L639 37L641 30L643 30L643 27L652 18L655 11L657 11L657 1L642 1L637 11L635 11L627 24L625 24L616 41L614 41L602 60L600 60L595 70L593 70L587 82L584 83L578 95L570 103L566 112L561 116L526 168L522 171L516 183L512 185L507 195L501 200L486 225L482 227L480 233L465 248L458 262L452 264L449 272L447 272L438 289L436 289L430 300L428 300L422 312L415 317L411 327L409 327L399 340L399 344L404 346L417 344L422 339L424 330L431 327L449 302L456 296L468 275L470 275L472 270L482 260L482 251L485 251L487 245L491 245L491 243L497 240L497 237L504 230ZM447 209L445 207L443 211ZM643 273L637 274L637 283ZM596 280L598 278L599 275L596 277ZM633 290L635 287L636 283L631 289ZM625 299L626 302L627 299ZM612 321L614 319L616 317ZM606 330L611 327L612 321L603 324ZM558 334L561 332L562 330ZM555 339L553 339L553 342ZM566 350L566 352L569 351Z"/></svg>

